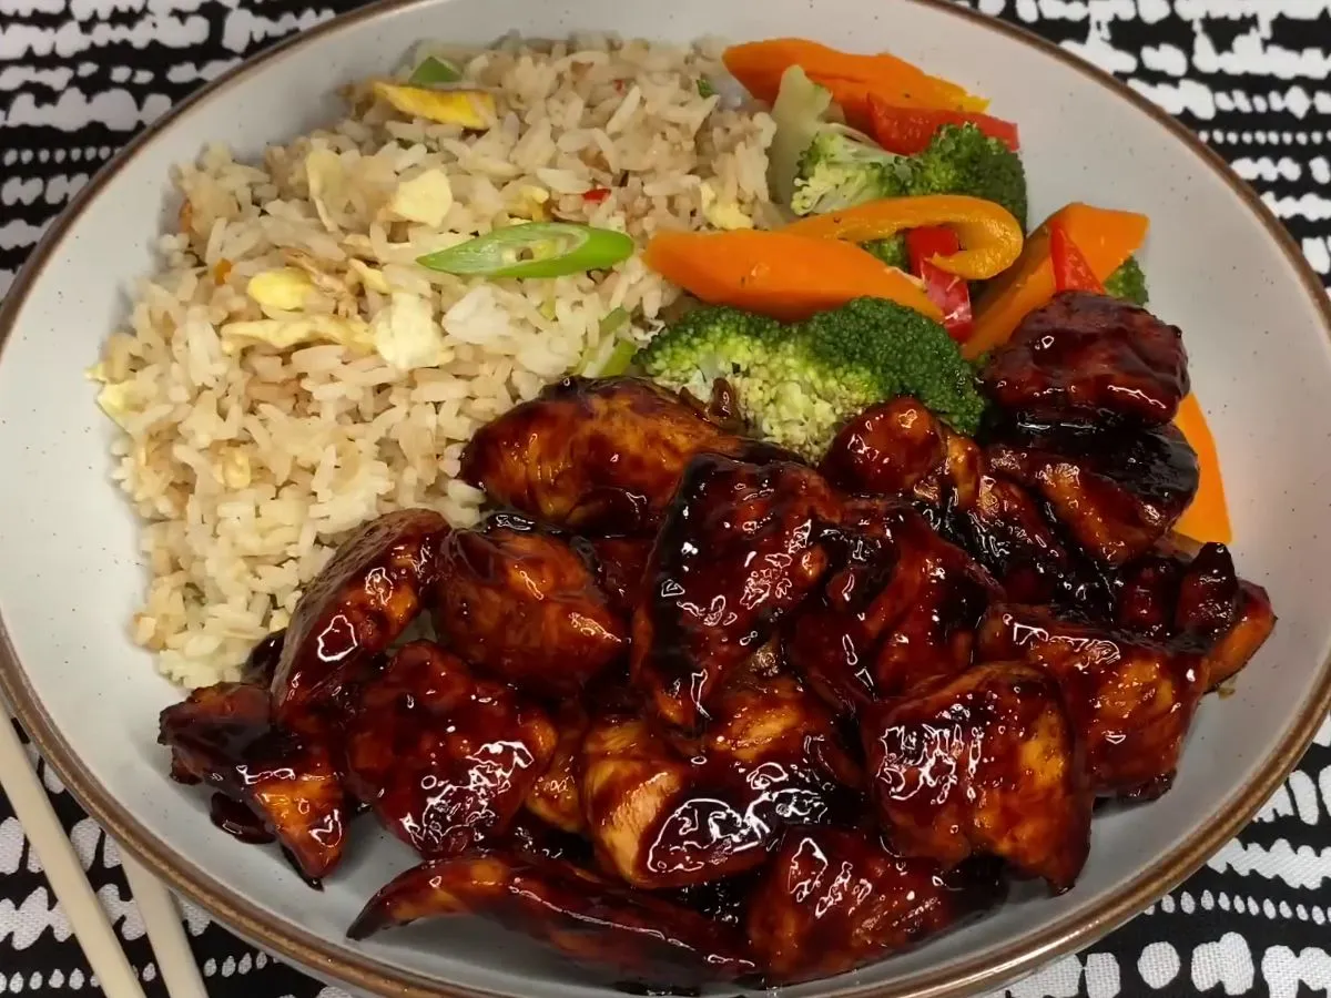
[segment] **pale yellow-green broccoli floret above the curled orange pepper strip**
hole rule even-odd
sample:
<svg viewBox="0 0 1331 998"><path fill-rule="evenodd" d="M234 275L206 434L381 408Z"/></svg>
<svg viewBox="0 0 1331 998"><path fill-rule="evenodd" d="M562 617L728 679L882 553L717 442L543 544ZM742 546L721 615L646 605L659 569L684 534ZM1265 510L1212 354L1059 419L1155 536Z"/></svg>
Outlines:
<svg viewBox="0 0 1331 998"><path fill-rule="evenodd" d="M823 214L880 197L901 197L908 193L905 162L905 157L828 125L800 157L791 210Z"/></svg>

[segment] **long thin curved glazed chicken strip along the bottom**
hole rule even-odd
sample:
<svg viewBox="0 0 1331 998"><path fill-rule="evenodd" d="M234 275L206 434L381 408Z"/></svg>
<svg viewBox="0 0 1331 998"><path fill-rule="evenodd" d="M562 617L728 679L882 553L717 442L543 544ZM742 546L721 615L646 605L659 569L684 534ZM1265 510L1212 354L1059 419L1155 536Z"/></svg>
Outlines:
<svg viewBox="0 0 1331 998"><path fill-rule="evenodd" d="M724 925L571 862L502 850L433 860L399 874L347 934L363 939L459 914L488 918L655 989L733 981L753 970L743 941Z"/></svg>

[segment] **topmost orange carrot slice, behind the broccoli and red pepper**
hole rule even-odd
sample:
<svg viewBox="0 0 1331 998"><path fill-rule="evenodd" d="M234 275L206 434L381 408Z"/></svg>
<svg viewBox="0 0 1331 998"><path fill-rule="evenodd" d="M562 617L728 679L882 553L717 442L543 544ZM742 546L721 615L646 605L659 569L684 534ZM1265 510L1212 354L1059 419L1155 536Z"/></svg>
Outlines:
<svg viewBox="0 0 1331 998"><path fill-rule="evenodd" d="M813 83L827 86L852 125L868 130L869 97L900 108L980 112L989 101L964 86L929 76L896 56L839 52L804 39L768 39L731 45L721 55L725 68L761 101L771 104L781 86L781 73L792 65Z"/></svg>

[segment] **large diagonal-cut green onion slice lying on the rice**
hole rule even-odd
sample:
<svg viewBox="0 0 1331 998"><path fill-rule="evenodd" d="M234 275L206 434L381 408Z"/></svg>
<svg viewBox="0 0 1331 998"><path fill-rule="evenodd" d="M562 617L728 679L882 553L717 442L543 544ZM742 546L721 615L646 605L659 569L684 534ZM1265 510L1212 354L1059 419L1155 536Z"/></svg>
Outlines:
<svg viewBox="0 0 1331 998"><path fill-rule="evenodd" d="M574 222L522 222L417 259L423 267L469 277L564 277L603 270L634 255L614 229Z"/></svg>

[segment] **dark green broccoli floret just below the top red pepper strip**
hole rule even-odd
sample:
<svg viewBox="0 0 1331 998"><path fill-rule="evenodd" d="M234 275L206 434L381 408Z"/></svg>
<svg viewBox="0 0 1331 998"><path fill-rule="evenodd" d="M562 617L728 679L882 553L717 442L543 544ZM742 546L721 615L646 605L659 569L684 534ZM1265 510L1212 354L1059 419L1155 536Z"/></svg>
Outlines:
<svg viewBox="0 0 1331 998"><path fill-rule="evenodd" d="M1002 205L1026 230L1026 168L974 125L944 125L910 157L909 194L968 194Z"/></svg>

